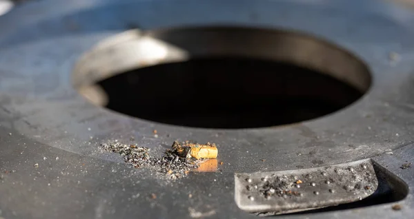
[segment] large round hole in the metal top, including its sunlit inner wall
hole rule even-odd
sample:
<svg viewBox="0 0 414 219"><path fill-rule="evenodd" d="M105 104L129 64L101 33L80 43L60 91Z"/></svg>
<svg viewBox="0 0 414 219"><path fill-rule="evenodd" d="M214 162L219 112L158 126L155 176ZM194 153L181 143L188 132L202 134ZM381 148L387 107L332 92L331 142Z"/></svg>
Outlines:
<svg viewBox="0 0 414 219"><path fill-rule="evenodd" d="M228 129L324 116L371 83L361 61L325 41L223 27L124 32L85 54L72 79L83 96L110 110Z"/></svg>

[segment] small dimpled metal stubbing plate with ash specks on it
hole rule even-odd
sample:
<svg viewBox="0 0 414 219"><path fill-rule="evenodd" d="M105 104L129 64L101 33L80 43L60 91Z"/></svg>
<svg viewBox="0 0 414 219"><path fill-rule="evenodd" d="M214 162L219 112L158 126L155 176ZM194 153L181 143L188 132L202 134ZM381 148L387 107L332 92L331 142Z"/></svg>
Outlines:
<svg viewBox="0 0 414 219"><path fill-rule="evenodd" d="M362 200L377 190L369 160L291 171L235 174L235 201L244 211L287 213Z"/></svg>

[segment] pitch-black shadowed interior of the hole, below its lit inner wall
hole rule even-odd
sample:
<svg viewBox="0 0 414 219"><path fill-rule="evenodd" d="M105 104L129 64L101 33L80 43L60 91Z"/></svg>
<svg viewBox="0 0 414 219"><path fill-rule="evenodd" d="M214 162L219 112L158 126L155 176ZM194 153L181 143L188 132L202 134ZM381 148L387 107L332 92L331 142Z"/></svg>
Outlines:
<svg viewBox="0 0 414 219"><path fill-rule="evenodd" d="M210 128L306 121L362 93L303 67L243 58L194 59L99 81L111 110L159 123Z"/></svg>

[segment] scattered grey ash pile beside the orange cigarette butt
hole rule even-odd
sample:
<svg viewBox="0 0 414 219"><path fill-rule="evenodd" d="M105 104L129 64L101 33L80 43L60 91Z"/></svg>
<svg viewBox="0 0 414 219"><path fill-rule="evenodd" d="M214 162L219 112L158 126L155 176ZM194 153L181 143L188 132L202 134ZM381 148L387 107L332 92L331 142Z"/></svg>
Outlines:
<svg viewBox="0 0 414 219"><path fill-rule="evenodd" d="M135 168L156 171L161 178L175 180L185 177L191 169L199 167L202 160L183 158L168 149L161 158L150 155L148 147L125 145L119 142L103 143L101 148L107 152L120 154L124 161Z"/></svg>

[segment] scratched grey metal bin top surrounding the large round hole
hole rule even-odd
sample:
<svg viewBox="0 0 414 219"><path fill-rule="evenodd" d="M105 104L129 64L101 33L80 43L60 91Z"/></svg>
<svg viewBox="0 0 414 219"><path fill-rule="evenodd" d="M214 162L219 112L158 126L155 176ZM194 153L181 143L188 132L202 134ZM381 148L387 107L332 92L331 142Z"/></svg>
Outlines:
<svg viewBox="0 0 414 219"><path fill-rule="evenodd" d="M108 36L131 26L211 23L319 36L357 54L371 69L373 84L363 98L334 114L240 130L130 118L88 103L72 88L79 56ZM0 217L255 218L235 203L235 172L371 157L412 188L413 168L399 167L414 163L413 23L412 10L382 1L39 1L14 8L0 18ZM391 52L400 59L391 61ZM128 142L131 136L155 152L175 139L214 142L224 165L165 183L97 149L106 140ZM393 155L384 154L387 149ZM388 203L306 217L408 218L414 213L411 192L401 204L400 211Z"/></svg>

